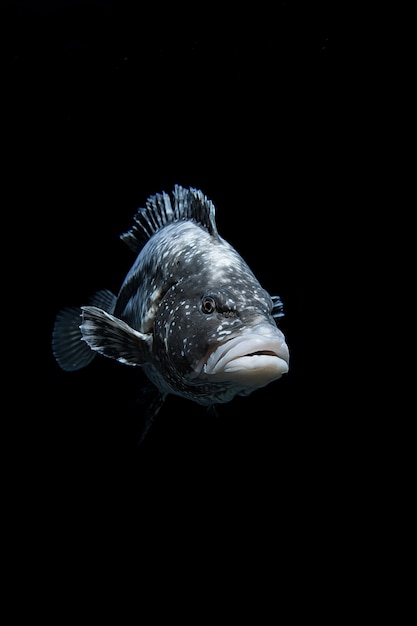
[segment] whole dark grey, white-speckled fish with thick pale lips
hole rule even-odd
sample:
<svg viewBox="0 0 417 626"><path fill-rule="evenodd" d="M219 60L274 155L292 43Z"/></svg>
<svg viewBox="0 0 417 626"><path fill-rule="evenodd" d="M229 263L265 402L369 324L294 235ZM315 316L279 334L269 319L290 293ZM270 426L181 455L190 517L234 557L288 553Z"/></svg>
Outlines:
<svg viewBox="0 0 417 626"><path fill-rule="evenodd" d="M60 309L52 352L67 372L97 355L141 368L142 439L170 394L212 410L288 373L283 302L219 235L200 189L148 197L120 238L135 260L118 294L102 289Z"/></svg>

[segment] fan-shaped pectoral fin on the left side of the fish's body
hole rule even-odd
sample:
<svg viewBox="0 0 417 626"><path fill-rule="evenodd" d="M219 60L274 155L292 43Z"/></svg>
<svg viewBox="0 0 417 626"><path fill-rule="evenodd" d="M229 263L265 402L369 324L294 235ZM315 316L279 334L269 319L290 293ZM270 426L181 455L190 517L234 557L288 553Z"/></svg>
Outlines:
<svg viewBox="0 0 417 626"><path fill-rule="evenodd" d="M103 356L127 365L144 365L150 360L152 335L140 333L123 320L95 306L84 306L82 338Z"/></svg>

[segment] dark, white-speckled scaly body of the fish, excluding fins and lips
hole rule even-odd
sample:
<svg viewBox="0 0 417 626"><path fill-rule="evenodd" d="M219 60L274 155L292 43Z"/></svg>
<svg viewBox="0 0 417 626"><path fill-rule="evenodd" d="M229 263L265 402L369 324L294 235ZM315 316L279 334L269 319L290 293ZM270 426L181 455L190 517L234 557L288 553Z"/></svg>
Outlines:
<svg viewBox="0 0 417 626"><path fill-rule="evenodd" d="M211 315L201 310L204 296L215 301ZM140 332L152 329L152 360L145 370L158 386L174 393L189 390L203 400L203 388L207 395L213 392L207 382L193 379L203 355L241 333L254 317L257 323L264 317L275 324L271 310L269 294L234 248L194 222L179 221L145 244L122 285L114 315Z"/></svg>

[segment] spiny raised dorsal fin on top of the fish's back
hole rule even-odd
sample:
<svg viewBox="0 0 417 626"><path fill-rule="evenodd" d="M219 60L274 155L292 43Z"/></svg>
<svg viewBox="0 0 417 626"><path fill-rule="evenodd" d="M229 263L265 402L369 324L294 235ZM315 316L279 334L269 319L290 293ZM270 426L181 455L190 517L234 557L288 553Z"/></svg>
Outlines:
<svg viewBox="0 0 417 626"><path fill-rule="evenodd" d="M160 228L181 220L196 222L213 237L219 237L211 200L199 189L175 185L171 195L164 191L150 196L146 207L137 210L132 228L120 238L137 254Z"/></svg>

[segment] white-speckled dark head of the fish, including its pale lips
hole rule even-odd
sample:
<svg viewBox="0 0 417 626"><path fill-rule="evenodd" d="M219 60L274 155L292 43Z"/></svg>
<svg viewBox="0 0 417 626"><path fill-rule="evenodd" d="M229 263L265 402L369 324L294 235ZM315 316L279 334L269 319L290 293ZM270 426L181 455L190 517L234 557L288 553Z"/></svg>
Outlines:
<svg viewBox="0 0 417 626"><path fill-rule="evenodd" d="M272 309L258 284L246 292L233 285L176 285L159 305L154 349L183 385L218 385L229 389L228 396L247 395L289 369Z"/></svg>

